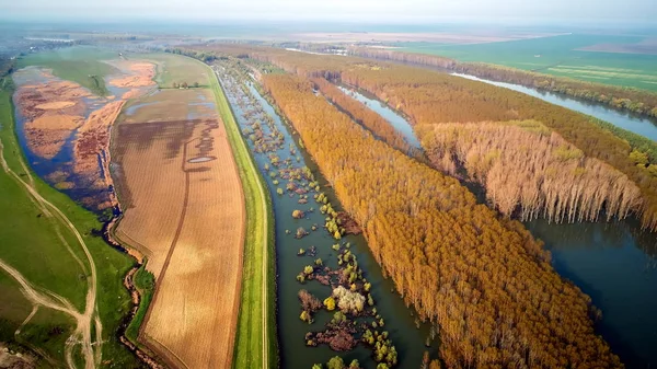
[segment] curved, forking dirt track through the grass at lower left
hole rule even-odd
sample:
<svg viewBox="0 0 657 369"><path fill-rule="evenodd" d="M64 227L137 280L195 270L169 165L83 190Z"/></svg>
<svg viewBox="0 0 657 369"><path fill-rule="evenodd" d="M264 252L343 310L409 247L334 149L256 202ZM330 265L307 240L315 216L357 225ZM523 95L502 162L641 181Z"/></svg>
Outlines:
<svg viewBox="0 0 657 369"><path fill-rule="evenodd" d="M21 162L21 165L23 166L23 169L26 169L23 160L19 159L19 161ZM73 358L72 358L72 350L78 344L80 344L82 355L84 357L84 368L87 368L87 369L96 368L100 366L101 357L102 357L101 356L102 339L97 339L100 337L100 335L102 334L101 333L102 332L102 323L101 323L100 319L97 318L97 310L96 310L96 285L97 285L96 268L95 268L95 263L93 261L93 257L91 256L91 253L89 252L89 249L87 247L87 243L84 243L82 235L80 234L80 232L78 232L78 230L76 229L76 226L66 217L66 215L64 215L64 212L61 210L59 210L59 208L57 208L50 201L48 201L43 196L41 196L41 194L35 189L34 181L30 174L28 174L30 183L26 183L25 181L23 181L21 178L20 175L18 175L14 171L12 171L11 168L9 168L9 164L7 163L7 160L4 159L4 147L3 147L1 140L0 140L0 164L2 164L2 169L4 170L4 172L7 174L12 176L16 181L16 183L19 183L26 189L26 192L31 196L31 199L33 199L33 203L42 210L42 212L47 218L49 218L54 223L56 223L56 222L62 223L66 228L68 228L71 231L71 233L73 233L76 235L76 239L78 240L78 243L80 244L80 247L82 249L82 251L84 252L84 254L87 256L87 261L89 263L89 270L91 274L90 278L88 280L89 287L87 290L84 312L79 312L67 299L65 299L64 297L61 297L53 291L48 291L48 290L44 290L44 289L39 288L39 290L43 290L43 292L39 292L32 284L30 284L30 281L19 270L16 270L11 265L4 263L1 260L0 260L0 268L2 268L7 274L9 274L12 278L14 278L21 285L21 291L23 292L25 298L27 298L35 307L43 305L45 308L60 311L65 314L70 315L76 321L76 330L73 331L72 335L67 341L67 344L65 347L65 356L66 356L68 367L76 368ZM30 171L27 171L27 170L25 172L30 173ZM67 247L69 247L68 244L66 244L66 245L67 245ZM69 251L72 252L71 250L69 250ZM95 320L96 342L93 343L93 346L95 346L95 347L92 346L92 341L91 341L92 320ZM95 351L94 351L94 348L95 348Z"/></svg>

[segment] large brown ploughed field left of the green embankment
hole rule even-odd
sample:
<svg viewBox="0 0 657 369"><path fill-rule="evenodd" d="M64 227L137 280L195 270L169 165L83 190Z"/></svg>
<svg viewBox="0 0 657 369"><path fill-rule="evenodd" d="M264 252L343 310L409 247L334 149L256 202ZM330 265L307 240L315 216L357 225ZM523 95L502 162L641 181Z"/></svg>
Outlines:
<svg viewBox="0 0 657 369"><path fill-rule="evenodd" d="M245 209L224 127L214 114L114 129L116 235L149 256L158 286L140 339L173 367L230 368Z"/></svg>

